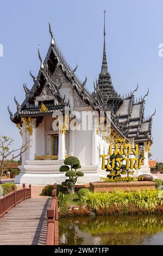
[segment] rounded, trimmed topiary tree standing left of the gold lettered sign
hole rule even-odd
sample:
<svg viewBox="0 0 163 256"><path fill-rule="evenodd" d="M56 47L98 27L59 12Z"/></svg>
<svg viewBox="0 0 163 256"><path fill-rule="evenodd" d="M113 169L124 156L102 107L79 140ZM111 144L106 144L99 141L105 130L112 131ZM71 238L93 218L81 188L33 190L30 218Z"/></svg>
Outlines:
<svg viewBox="0 0 163 256"><path fill-rule="evenodd" d="M65 176L67 177L67 179L62 182L62 186L66 186L68 193L74 193L74 185L78 177L84 176L84 173L78 170L81 168L80 161L75 156L68 156L64 164L65 165L61 166L59 169L60 172L66 172Z"/></svg>

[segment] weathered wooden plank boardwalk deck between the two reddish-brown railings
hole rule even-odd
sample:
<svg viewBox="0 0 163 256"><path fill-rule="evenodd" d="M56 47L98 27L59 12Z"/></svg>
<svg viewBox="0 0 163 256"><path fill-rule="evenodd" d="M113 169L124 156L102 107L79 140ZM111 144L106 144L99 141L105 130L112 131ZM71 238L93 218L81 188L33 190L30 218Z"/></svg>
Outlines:
<svg viewBox="0 0 163 256"><path fill-rule="evenodd" d="M29 198L0 218L0 245L45 245L51 198Z"/></svg>

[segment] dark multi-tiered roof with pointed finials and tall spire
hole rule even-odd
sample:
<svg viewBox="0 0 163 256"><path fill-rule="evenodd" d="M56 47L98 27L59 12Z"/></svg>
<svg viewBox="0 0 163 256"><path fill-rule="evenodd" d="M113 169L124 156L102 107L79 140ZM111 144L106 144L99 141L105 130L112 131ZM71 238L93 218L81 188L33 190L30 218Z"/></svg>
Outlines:
<svg viewBox="0 0 163 256"><path fill-rule="evenodd" d="M141 100L135 102L134 93L138 85L126 97L118 94L112 85L106 60L105 11L102 69L96 85L94 83L95 90L92 93L89 93L85 87L86 77L83 82L80 82L77 78L75 72L78 66L76 65L74 69L71 69L59 50L53 38L50 21L49 33L51 34L51 45L49 46L44 62L42 62L38 48L41 62L39 74L37 77L34 77L32 72L30 72L34 82L33 87L32 89L28 89L26 84L23 84L26 99L20 105L16 98L14 98L17 111L15 114L12 114L8 107L10 119L16 124L21 124L22 117L35 117L37 119L37 125L39 125L43 119L43 115L48 115L59 110L64 111L65 106L69 106L69 100L66 101L65 96L61 96L60 88L62 84L71 83L74 89L74 101L77 107L91 106L96 111L111 111L111 125L121 136L128 139L134 138L139 144L145 141L152 141L152 119L155 112L148 119L145 120L144 118L145 98L149 90ZM47 109L40 112L42 102L45 103Z"/></svg>

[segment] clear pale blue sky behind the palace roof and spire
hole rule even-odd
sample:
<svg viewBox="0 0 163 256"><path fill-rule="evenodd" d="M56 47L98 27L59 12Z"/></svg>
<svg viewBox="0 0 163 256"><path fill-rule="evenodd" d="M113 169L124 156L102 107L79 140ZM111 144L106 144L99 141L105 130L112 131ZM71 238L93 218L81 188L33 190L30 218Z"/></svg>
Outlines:
<svg viewBox="0 0 163 256"><path fill-rule="evenodd" d="M0 57L1 126L0 133L15 139L21 137L11 123L7 106L16 111L14 96L22 103L23 83L33 86L29 71L36 76L40 68L37 45L45 58L50 35L48 20L61 51L73 67L78 63L77 75L87 76L87 87L101 70L103 51L103 10L106 10L106 51L109 71L117 92L133 90L139 83L137 97L145 95L146 115L152 114L153 159L163 161L162 107L163 57L158 45L163 43L162 0L62 0L62 1L1 1Z"/></svg>

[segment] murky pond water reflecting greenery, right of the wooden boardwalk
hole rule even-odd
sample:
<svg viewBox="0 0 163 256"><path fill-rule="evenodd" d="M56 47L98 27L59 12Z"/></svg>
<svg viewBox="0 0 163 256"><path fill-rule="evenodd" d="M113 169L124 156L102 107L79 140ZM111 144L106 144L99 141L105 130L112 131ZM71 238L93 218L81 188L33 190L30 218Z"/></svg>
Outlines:
<svg viewBox="0 0 163 256"><path fill-rule="evenodd" d="M65 217L59 223L60 245L163 245L163 215Z"/></svg>

